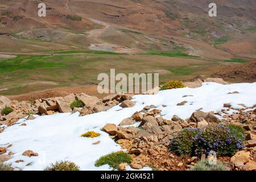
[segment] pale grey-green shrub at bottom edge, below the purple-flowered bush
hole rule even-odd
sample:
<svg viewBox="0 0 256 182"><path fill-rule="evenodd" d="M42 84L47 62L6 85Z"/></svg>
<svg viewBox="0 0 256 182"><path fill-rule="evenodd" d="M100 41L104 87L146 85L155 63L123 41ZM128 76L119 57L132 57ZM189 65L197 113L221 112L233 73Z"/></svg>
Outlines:
<svg viewBox="0 0 256 182"><path fill-rule="evenodd" d="M190 171L228 171L228 169L221 162L217 164L209 164L209 160L200 160L193 166Z"/></svg>

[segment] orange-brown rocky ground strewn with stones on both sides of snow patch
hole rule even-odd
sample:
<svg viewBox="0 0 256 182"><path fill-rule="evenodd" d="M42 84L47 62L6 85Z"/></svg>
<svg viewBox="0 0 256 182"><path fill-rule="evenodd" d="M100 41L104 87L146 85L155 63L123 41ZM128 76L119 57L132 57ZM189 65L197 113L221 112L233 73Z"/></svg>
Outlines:
<svg viewBox="0 0 256 182"><path fill-rule="evenodd" d="M198 88L203 82L218 82L228 84L221 78L205 78L187 82L190 88ZM227 94L239 94L237 91ZM238 96L238 95L237 95ZM185 101L189 96L184 96L184 101L177 103L177 106L188 104ZM84 107L74 107L70 105L73 101L80 100ZM113 94L102 99L89 96L85 93L68 94L65 97L42 98L34 102L10 100L7 97L0 96L0 111L6 106L11 106L13 111L7 115L0 116L0 133L4 132L7 127L18 123L19 119L35 119L34 115L52 115L56 113L80 113L80 117L93 113L106 111L113 106L121 106L122 108L133 107L135 105L132 96L129 94ZM248 107L239 104L240 109L233 107L232 104L224 104L224 108L219 112L205 113L201 109L192 113L188 119L181 119L178 115L173 115L171 119L164 119L165 114L162 110L156 109L155 105L143 107L141 111L137 111L130 117L123 119L119 125L107 123L102 130L110 135L119 146L127 150L133 156L131 168L142 169L143 167L151 167L158 170L186 170L195 165L200 160L197 156L178 156L168 150L170 140L173 134L187 128L201 128L208 126L210 123L232 123L240 125L246 130L246 143L243 150L238 151L232 158L220 157L218 160L223 162L230 170L256 170L256 105ZM162 108L167 105L162 105ZM220 119L221 118L221 119ZM21 126L26 126L23 123ZM1 135L1 134L0 134ZM100 142L98 142L100 143ZM95 144L98 144L97 142ZM13 152L9 151L11 143L0 147L0 161L5 162L12 158ZM7 151L9 153L7 154ZM38 156L37 152L27 150L24 156ZM202 155L201 159L207 156ZM16 161L16 163L22 162ZM123 164L122 164L123 165ZM121 166L122 166L121 165ZM123 168L125 169L125 168Z"/></svg>

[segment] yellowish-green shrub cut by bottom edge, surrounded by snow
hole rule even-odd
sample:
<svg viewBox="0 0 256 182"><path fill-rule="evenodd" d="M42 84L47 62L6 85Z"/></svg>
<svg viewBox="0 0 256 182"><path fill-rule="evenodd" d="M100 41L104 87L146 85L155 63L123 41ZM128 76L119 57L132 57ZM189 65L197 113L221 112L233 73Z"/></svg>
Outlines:
<svg viewBox="0 0 256 182"><path fill-rule="evenodd" d="M44 171L79 171L79 168L80 167L73 162L60 160L54 164L50 164L50 166L46 167Z"/></svg>

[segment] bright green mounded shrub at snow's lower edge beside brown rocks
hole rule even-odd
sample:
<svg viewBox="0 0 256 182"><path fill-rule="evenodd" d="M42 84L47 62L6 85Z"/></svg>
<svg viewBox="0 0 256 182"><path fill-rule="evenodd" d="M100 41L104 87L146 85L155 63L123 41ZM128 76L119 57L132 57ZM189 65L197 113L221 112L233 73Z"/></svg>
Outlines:
<svg viewBox="0 0 256 182"><path fill-rule="evenodd" d="M109 164L113 169L118 169L119 164L127 163L130 164L133 159L129 154L123 151L112 152L111 154L101 156L95 163L96 167L100 167L105 164Z"/></svg>

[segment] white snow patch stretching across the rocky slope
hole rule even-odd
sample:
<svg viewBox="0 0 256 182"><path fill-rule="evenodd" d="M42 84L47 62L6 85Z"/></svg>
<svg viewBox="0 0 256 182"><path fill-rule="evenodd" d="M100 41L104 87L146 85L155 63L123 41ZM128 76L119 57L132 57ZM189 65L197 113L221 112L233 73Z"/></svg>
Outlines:
<svg viewBox="0 0 256 182"><path fill-rule="evenodd" d="M234 91L239 93L228 94ZM166 119L171 119L174 114L187 119L200 108L203 111L220 111L224 103L230 103L233 107L242 107L238 104L252 106L256 104L256 83L220 85L207 82L195 89L164 90L155 96L134 96L133 101L136 101L134 107L122 109L115 106L108 111L84 117L79 117L79 113L66 113L37 117L31 121L20 119L19 124L7 127L0 134L0 147L12 144L7 148L7 153L11 151L14 155L7 163L23 170L42 170L56 160L70 160L78 164L81 170L106 170L109 169L108 165L95 167L94 162L102 155L121 150L108 134L101 131L106 123L118 125L122 119L130 117L146 105L158 107ZM188 102L177 106L182 101ZM20 126L20 123L26 123L27 126ZM86 131L96 131L101 136L93 139L80 137ZM100 144L92 144L98 140L101 141ZM39 156L23 156L22 153L26 150L37 152ZM15 163L20 159L24 162ZM32 163L26 166L30 162Z"/></svg>

